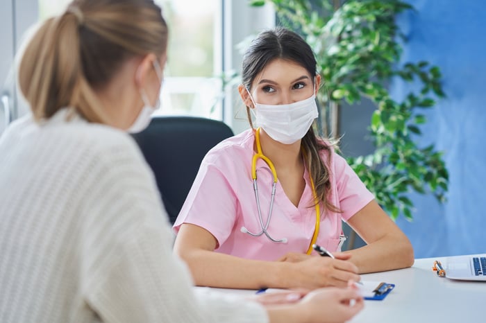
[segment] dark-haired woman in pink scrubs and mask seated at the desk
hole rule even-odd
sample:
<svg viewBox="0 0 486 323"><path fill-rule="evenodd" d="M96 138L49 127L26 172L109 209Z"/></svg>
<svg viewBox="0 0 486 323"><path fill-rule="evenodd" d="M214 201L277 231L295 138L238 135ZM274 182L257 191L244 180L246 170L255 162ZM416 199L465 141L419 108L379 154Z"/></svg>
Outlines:
<svg viewBox="0 0 486 323"><path fill-rule="evenodd" d="M246 51L239 91L251 128L208 152L174 224L174 250L197 285L346 286L360 273L412 265L408 238L315 135L320 82L310 46L290 30L262 32ZM366 246L340 252L343 220ZM335 259L316 256L313 243Z"/></svg>

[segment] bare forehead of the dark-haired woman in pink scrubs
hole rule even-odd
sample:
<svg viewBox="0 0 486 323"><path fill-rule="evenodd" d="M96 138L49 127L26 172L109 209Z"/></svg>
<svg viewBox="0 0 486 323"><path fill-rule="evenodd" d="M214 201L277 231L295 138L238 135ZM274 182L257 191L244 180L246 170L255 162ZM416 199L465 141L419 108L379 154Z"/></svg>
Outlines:
<svg viewBox="0 0 486 323"><path fill-rule="evenodd" d="M291 60L277 58L269 62L256 75L253 83L258 84L260 80L271 80L278 83L292 82L301 76L308 76L310 78L309 72L305 67Z"/></svg>

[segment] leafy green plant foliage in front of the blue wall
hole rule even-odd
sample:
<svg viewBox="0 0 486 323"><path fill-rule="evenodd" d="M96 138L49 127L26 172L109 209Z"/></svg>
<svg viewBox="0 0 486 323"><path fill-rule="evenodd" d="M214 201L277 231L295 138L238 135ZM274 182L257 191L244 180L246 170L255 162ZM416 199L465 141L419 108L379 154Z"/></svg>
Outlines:
<svg viewBox="0 0 486 323"><path fill-rule="evenodd" d="M371 155L349 158L349 164L372 191L380 205L396 219L403 214L412 219L413 204L407 193L433 193L444 202L449 174L442 153L434 146L420 148L414 139L421 135L419 125L426 123L421 109L435 105L444 97L441 73L428 62L399 65L403 39L395 17L413 10L398 0L348 0L335 6L332 0L250 1L253 6L274 3L280 21L299 32L315 51L319 71L328 89L319 94L321 110L342 101L357 103L369 98L376 104L371 116L370 138L376 150ZM414 82L401 102L387 90L390 78ZM321 91L322 92L322 91ZM328 120L323 123L327 125ZM326 133L326 126L321 125ZM330 130L330 133L334 133Z"/></svg>

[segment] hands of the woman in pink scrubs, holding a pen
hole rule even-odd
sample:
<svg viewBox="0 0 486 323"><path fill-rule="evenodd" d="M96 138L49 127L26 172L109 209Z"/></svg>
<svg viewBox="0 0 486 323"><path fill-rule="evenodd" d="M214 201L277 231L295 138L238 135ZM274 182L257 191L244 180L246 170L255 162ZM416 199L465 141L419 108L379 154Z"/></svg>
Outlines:
<svg viewBox="0 0 486 323"><path fill-rule="evenodd" d="M347 261L351 254L336 252L335 259L290 252L278 259L288 262L294 270L287 279L289 286L315 289L326 286L345 287L348 281L360 281L358 267Z"/></svg>

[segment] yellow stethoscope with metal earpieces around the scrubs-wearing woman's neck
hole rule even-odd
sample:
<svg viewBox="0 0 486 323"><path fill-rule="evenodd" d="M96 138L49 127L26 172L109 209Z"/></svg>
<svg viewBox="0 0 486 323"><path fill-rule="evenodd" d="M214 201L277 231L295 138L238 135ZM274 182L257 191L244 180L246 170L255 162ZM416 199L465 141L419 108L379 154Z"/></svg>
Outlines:
<svg viewBox="0 0 486 323"><path fill-rule="evenodd" d="M246 229L246 227L242 227L241 231L251 236L261 236L262 234L265 234L265 236L267 236L267 238L269 238L269 240L273 241L274 243L287 243L287 238L276 239L273 238L268 232L268 226L271 218L271 211L274 207L274 198L275 198L275 191L277 186L277 172L275 170L274 163L272 163L271 160L267 156L263 155L262 153L262 146L260 144L260 128L258 128L255 131L255 142L256 142L256 153L255 155L253 155L253 159L251 160L251 177L253 178L253 191L255 192L255 200L258 209L258 220L260 220L260 225L262 227L262 230L258 232L258 234L254 234L252 232L249 232L249 230ZM256 178L256 162L258 158L263 159L267 163L267 165L270 168L271 174L274 176L274 183L271 187L270 207L269 207L267 222L265 222L265 224L263 223L262 210L260 209L260 199L258 198L258 184ZM314 181L312 181L312 177L310 177L310 187L312 188L312 195L314 196L314 200L315 200L316 223L314 228L314 234L312 234L312 239L310 240L309 248L306 252L307 254L310 254L310 252L312 252L312 245L316 243L317 235L319 234L319 224L321 222L320 221L321 210L319 208L317 193L315 191Z"/></svg>

